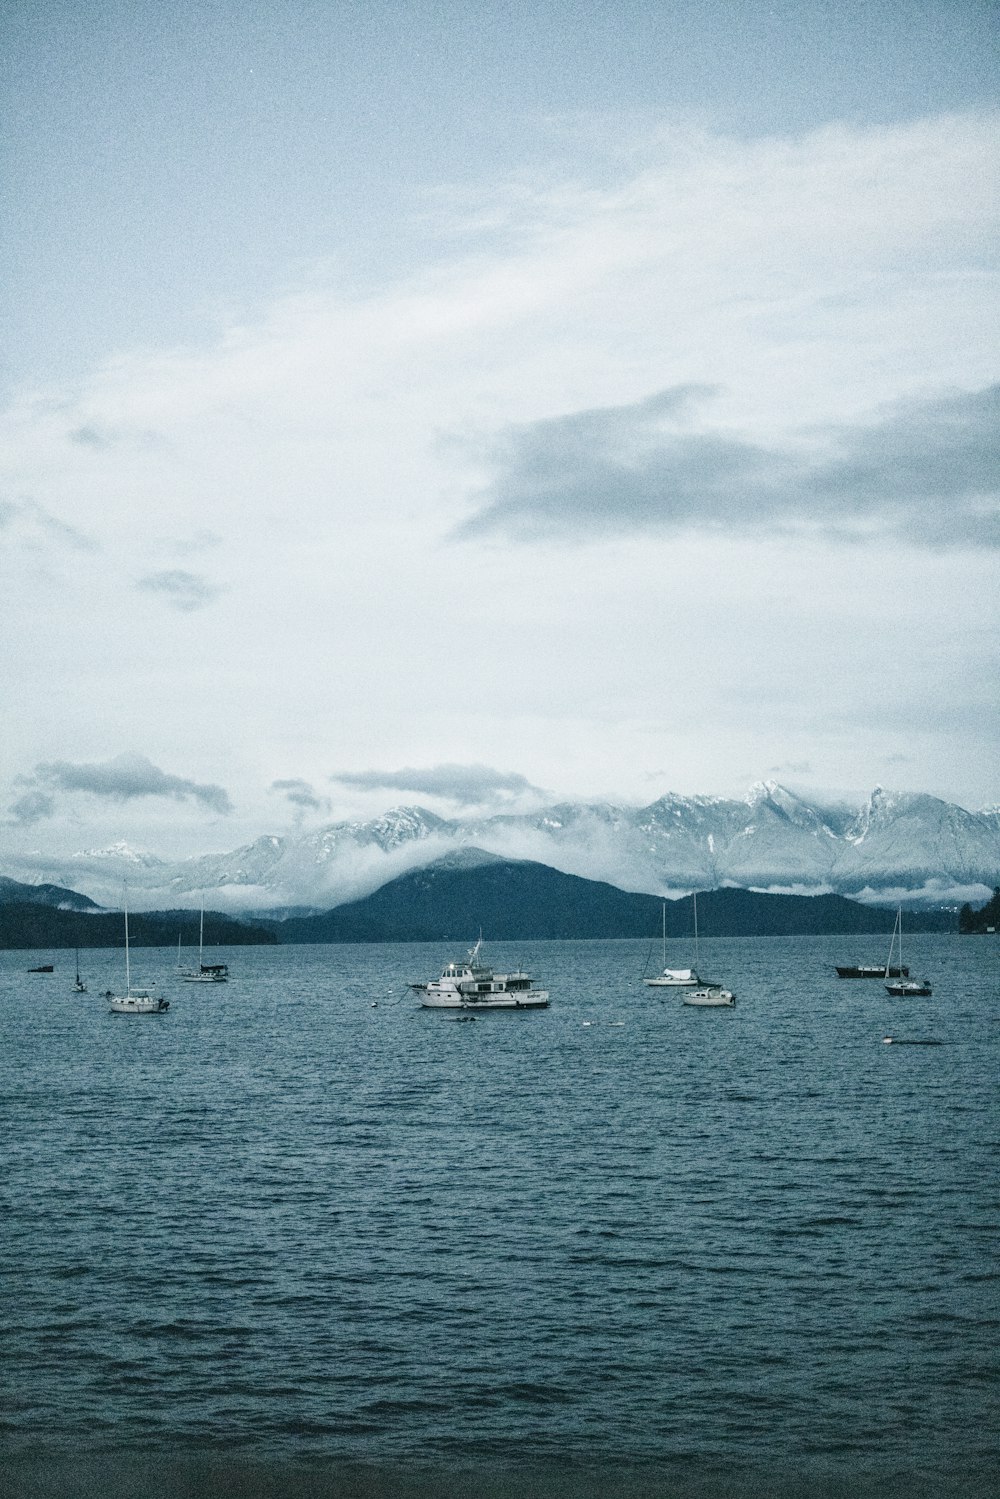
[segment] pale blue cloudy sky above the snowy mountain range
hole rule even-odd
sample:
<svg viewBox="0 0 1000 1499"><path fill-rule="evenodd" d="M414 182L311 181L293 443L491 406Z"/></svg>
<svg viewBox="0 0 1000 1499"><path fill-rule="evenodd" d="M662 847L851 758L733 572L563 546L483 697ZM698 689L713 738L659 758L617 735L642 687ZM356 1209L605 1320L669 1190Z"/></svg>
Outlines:
<svg viewBox="0 0 1000 1499"><path fill-rule="evenodd" d="M6 0L3 850L997 775L1000 7Z"/></svg>

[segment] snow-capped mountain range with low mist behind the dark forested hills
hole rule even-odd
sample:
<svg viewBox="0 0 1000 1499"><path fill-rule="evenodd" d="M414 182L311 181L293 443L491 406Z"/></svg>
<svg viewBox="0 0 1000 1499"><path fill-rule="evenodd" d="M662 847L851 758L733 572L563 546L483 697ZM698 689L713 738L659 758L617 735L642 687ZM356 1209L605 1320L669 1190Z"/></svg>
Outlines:
<svg viewBox="0 0 1000 1499"><path fill-rule="evenodd" d="M228 854L166 862L126 845L63 860L18 860L117 904L328 910L408 869L468 848L534 859L625 890L679 893L724 884L861 899L979 901L1000 881L1000 809L969 812L877 787L858 811L823 806L772 781L742 800L669 794L649 806L564 802L531 815L447 820L418 806L370 821L264 836Z"/></svg>

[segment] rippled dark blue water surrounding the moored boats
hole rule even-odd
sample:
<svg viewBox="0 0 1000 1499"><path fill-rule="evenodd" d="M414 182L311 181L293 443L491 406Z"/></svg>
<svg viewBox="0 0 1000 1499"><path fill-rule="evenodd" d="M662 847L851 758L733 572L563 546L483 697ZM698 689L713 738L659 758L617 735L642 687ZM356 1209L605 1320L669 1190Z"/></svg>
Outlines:
<svg viewBox="0 0 1000 1499"><path fill-rule="evenodd" d="M997 1493L1000 943L882 946L496 944L553 1004L471 1024L460 949L0 955L0 1486Z"/></svg>

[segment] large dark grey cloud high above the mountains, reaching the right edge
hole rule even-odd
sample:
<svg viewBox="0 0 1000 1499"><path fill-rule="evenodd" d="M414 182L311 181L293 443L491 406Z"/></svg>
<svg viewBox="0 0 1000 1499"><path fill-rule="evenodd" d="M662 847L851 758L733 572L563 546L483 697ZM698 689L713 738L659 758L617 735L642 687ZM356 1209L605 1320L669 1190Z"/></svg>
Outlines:
<svg viewBox="0 0 1000 1499"><path fill-rule="evenodd" d="M873 534L1000 544L1000 385L898 402L784 448L691 430L706 387L508 429L487 502L456 532L513 540L624 531Z"/></svg>

